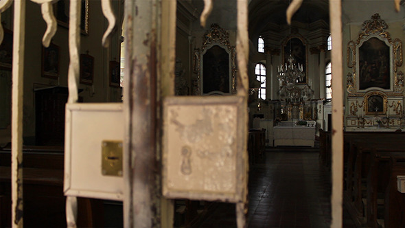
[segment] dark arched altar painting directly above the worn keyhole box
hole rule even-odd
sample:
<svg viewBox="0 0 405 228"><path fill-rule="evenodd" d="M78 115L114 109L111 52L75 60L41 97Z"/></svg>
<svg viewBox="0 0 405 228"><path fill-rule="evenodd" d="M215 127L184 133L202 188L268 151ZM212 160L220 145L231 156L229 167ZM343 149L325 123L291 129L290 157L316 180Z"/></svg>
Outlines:
<svg viewBox="0 0 405 228"><path fill-rule="evenodd" d="M203 93L231 93L229 59L229 53L219 45L213 45L203 54Z"/></svg>

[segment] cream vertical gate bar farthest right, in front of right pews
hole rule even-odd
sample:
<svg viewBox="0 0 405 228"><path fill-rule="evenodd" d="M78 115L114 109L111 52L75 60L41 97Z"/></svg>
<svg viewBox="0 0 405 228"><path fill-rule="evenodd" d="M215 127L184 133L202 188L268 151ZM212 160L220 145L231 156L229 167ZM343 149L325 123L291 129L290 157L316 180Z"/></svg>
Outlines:
<svg viewBox="0 0 405 228"><path fill-rule="evenodd" d="M329 0L332 34L332 223L342 227L343 219L343 52L342 7L340 0Z"/></svg>

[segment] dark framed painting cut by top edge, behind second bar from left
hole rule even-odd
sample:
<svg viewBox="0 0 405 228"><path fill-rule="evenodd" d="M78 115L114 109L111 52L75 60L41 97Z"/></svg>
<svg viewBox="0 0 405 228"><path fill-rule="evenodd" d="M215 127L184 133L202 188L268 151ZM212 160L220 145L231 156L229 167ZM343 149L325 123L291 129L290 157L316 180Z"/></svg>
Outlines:
<svg viewBox="0 0 405 228"><path fill-rule="evenodd" d="M69 0L59 0L54 4L54 14L58 25L69 28ZM82 0L80 31L89 35L89 0Z"/></svg>

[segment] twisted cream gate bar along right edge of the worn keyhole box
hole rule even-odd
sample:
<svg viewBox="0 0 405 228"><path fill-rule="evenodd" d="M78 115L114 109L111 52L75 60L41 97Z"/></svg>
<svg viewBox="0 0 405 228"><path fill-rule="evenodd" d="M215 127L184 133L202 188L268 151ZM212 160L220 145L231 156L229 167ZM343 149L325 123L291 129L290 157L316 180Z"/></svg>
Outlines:
<svg viewBox="0 0 405 228"><path fill-rule="evenodd" d="M240 0L238 1L238 32L236 37L236 52L238 58L238 96L244 98L242 105L247 107L247 95L248 95L248 56L249 56L249 41L248 41L248 1ZM242 183L244 183L243 202L236 204L236 223L238 228L246 227L246 212L247 212L247 198L248 198L248 156L247 156L247 140L248 140L248 117L247 110L242 109L243 119L243 132L244 132L244 144L242 151L244 152L244 167L245 173L240 176L242 178Z"/></svg>

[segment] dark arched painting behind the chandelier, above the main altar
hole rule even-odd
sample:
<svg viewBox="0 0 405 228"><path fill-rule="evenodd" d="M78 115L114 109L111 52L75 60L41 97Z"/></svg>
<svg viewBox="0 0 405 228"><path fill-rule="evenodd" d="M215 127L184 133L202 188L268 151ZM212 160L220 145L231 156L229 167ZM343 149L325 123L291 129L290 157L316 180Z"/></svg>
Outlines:
<svg viewBox="0 0 405 228"><path fill-rule="evenodd" d="M292 58L294 58L294 64L300 65L303 67L303 73L305 74L303 80L301 83L306 83L307 82L307 49L306 49L306 45L303 44L303 41L301 41L300 38L290 38L288 40L288 42L286 43L286 45L284 46L283 49L284 52L284 64L288 64L288 57L292 56ZM300 82L299 82L300 83Z"/></svg>

